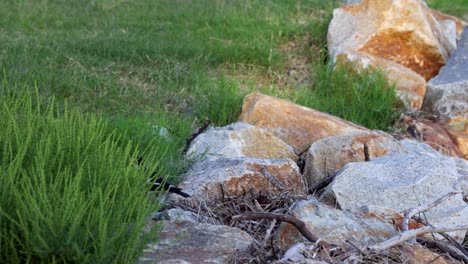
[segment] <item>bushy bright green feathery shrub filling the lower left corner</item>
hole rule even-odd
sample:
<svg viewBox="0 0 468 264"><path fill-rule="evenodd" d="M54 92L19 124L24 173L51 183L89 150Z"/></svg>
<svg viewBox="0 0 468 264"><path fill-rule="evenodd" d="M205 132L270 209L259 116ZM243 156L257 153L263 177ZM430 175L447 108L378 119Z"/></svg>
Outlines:
<svg viewBox="0 0 468 264"><path fill-rule="evenodd" d="M158 207L138 148L37 89L3 82L0 108L0 262L134 261Z"/></svg>

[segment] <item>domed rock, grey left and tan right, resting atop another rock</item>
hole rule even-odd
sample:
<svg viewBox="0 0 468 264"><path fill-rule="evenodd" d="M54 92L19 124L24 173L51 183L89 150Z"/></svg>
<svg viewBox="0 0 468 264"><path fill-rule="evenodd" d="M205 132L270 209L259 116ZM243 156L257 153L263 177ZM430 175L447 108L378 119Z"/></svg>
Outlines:
<svg viewBox="0 0 468 264"><path fill-rule="evenodd" d="M290 158L297 162L294 149L272 134L247 123L210 128L192 142L187 156L203 155L217 159L250 157L260 159Z"/></svg>

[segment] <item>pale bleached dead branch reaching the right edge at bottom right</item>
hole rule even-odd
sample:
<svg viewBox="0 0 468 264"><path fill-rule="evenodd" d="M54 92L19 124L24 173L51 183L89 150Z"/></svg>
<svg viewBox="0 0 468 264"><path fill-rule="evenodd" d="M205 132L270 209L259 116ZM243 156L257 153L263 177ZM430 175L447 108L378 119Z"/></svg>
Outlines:
<svg viewBox="0 0 468 264"><path fill-rule="evenodd" d="M425 227L421 227L418 229L412 229L412 230L402 232L398 236L392 237L382 243L378 243L378 244L368 247L367 250L368 251L383 251L393 246L399 245L414 237L424 235L427 233L452 232L452 231L465 230L465 229L468 230L468 225L460 225L460 226L453 226L453 227L425 226Z"/></svg>

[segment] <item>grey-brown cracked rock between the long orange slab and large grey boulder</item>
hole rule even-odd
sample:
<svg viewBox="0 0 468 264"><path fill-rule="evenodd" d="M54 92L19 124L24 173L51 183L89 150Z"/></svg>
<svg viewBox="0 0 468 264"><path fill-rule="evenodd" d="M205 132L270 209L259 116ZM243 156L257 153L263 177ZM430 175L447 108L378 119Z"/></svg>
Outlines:
<svg viewBox="0 0 468 264"><path fill-rule="evenodd" d="M311 186L349 162L367 161L392 152L405 152L405 149L383 132L352 132L327 137L314 142L307 151L304 177Z"/></svg>

